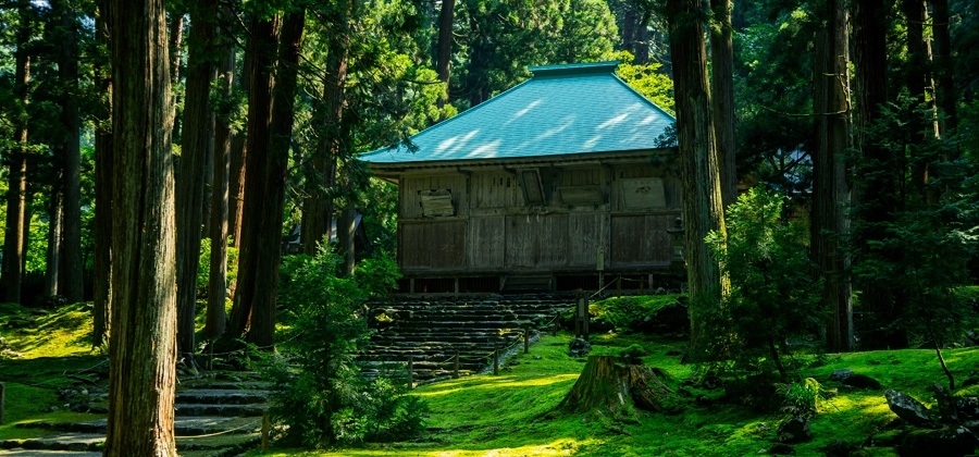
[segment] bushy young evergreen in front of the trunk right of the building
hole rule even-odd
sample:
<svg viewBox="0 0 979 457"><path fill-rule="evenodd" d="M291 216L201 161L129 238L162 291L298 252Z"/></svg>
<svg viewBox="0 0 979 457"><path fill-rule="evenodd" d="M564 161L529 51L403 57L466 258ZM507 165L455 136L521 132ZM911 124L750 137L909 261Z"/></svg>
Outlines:
<svg viewBox="0 0 979 457"><path fill-rule="evenodd" d="M731 280L730 295L703 317L704 350L743 372L778 370L791 338L811 337L822 322L805 232L785 221L782 197L752 188L728 209L728 236L707 244Z"/></svg>

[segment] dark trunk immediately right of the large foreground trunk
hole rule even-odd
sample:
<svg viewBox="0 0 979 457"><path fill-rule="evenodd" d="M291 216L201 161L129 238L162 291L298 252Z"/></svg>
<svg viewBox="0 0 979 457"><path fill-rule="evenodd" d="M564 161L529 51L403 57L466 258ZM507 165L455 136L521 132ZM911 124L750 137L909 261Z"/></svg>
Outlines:
<svg viewBox="0 0 979 457"><path fill-rule="evenodd" d="M196 366L194 322L197 317L205 171L208 158L213 155L210 89L215 65L210 55L214 47L218 1L201 1L193 13L188 40L187 106L184 109L179 185L176 187L177 350L181 360L189 367Z"/></svg>

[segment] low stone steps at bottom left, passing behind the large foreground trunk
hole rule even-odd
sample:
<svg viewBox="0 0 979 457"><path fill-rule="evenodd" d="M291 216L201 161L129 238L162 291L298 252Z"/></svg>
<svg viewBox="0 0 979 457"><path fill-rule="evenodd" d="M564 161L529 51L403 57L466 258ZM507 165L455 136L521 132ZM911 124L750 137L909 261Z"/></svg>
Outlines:
<svg viewBox="0 0 979 457"><path fill-rule="evenodd" d="M181 456L234 456L261 443L262 415L269 406L267 384L240 380L240 375L211 372L182 379L174 405ZM21 423L15 427L37 437L0 441L0 456L98 456L106 424L103 415L73 422Z"/></svg>

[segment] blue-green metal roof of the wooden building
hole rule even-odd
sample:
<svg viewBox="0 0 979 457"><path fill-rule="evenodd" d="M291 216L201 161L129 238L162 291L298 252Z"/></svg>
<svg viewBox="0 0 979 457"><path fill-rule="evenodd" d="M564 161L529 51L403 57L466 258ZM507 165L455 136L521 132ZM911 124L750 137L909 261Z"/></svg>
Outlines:
<svg viewBox="0 0 979 457"><path fill-rule="evenodd" d="M372 164L655 149L676 119L615 75L618 62L531 66L533 77L411 137Z"/></svg>

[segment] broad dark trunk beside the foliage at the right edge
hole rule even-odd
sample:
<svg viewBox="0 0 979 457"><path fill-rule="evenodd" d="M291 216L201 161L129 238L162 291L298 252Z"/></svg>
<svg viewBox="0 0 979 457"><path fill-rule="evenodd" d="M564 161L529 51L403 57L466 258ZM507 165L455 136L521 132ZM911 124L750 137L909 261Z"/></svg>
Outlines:
<svg viewBox="0 0 979 457"><path fill-rule="evenodd" d="M900 252L872 252L875 244L887 237L885 226L899 210L897 183L902 172L900 158L891 151L865 140L860 134L880 119L888 101L887 92L887 32L888 8L884 0L853 2L853 49L856 72L857 145L862 165L872 173L864 173L857 187L854 227L860 257L882 256L896 260ZM868 279L860 286L860 306L867 321L864 325L864 349L907 347L907 332L900 324L904 299L897 288L887 281Z"/></svg>

